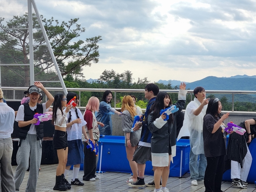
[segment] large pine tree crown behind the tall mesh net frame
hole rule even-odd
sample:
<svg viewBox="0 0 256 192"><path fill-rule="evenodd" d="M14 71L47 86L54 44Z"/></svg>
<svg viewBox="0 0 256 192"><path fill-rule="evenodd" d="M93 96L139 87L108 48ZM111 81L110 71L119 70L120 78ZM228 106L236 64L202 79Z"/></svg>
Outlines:
<svg viewBox="0 0 256 192"><path fill-rule="evenodd" d="M59 23L58 20L46 19L41 16L46 34L52 46L54 56L59 65L61 75L71 74L74 79L83 77L82 67L90 66L99 61L99 46L101 36L78 39L85 31L84 27L78 24L79 18L70 19L68 22ZM33 20L33 50L34 67L36 75L48 73L53 67L52 58L48 51L45 38L35 14ZM13 16L12 19L5 21L0 18L0 62L1 64L29 64L29 22L28 14ZM19 71L28 68L22 66L12 72L18 74ZM28 71L28 70L27 70ZM29 74L23 74L29 76Z"/></svg>

